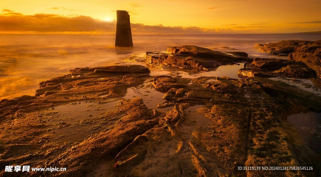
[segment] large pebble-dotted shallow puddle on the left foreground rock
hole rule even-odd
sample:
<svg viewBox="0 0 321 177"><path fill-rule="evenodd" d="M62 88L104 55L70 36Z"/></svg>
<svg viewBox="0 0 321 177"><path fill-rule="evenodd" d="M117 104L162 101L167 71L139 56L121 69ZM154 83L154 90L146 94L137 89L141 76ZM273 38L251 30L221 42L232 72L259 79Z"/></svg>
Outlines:
<svg viewBox="0 0 321 177"><path fill-rule="evenodd" d="M119 102L74 102L61 105L51 110L56 115L47 121L56 128L48 130L54 142L81 142L91 134L98 133L109 126L115 125L116 120L100 117L107 111L115 109Z"/></svg>

